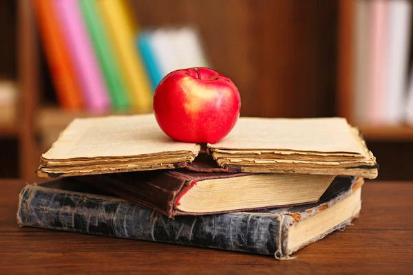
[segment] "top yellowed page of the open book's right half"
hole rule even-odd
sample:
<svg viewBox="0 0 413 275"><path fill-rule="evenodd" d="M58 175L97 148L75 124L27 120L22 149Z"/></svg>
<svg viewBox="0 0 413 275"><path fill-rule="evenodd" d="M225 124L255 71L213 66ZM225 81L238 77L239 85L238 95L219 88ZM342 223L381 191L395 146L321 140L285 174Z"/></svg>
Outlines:
<svg viewBox="0 0 413 275"><path fill-rule="evenodd" d="M208 146L366 155L345 118L240 118L228 136Z"/></svg>

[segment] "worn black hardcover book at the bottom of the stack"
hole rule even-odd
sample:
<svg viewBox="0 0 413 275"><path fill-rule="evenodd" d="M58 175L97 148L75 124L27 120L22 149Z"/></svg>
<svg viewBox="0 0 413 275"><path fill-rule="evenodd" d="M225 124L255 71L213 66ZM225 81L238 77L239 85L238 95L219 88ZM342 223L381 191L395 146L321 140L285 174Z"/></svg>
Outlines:
<svg viewBox="0 0 413 275"><path fill-rule="evenodd" d="M319 202L304 206L169 219L67 178L25 186L19 196L17 222L20 226L288 259L359 217L362 184L362 178L344 177L333 182Z"/></svg>

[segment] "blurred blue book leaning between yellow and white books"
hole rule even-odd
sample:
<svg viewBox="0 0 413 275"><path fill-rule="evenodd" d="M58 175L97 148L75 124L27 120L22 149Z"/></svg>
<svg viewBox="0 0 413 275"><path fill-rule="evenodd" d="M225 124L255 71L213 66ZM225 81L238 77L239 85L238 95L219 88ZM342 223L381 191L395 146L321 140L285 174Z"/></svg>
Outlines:
<svg viewBox="0 0 413 275"><path fill-rule="evenodd" d="M160 72L159 61L153 53L151 45L151 32L141 32L136 39L136 45L140 51L142 60L145 63L147 73L151 78L152 90L155 91L163 76L162 72Z"/></svg>

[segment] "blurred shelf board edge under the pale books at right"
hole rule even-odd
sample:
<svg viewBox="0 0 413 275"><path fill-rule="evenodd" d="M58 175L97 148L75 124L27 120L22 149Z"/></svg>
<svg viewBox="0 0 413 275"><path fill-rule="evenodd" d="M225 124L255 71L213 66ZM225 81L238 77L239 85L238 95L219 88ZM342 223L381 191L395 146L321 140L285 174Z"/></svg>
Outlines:
<svg viewBox="0 0 413 275"><path fill-rule="evenodd" d="M388 142L413 142L413 126L359 126L366 140Z"/></svg>

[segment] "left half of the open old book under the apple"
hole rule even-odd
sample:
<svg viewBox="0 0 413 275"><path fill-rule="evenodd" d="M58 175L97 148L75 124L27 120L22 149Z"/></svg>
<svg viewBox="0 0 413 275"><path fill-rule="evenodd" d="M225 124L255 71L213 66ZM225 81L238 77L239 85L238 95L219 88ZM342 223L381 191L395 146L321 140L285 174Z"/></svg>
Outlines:
<svg viewBox="0 0 413 275"><path fill-rule="evenodd" d="M200 145L176 142L153 114L78 118L40 159L40 177L180 168Z"/></svg>

